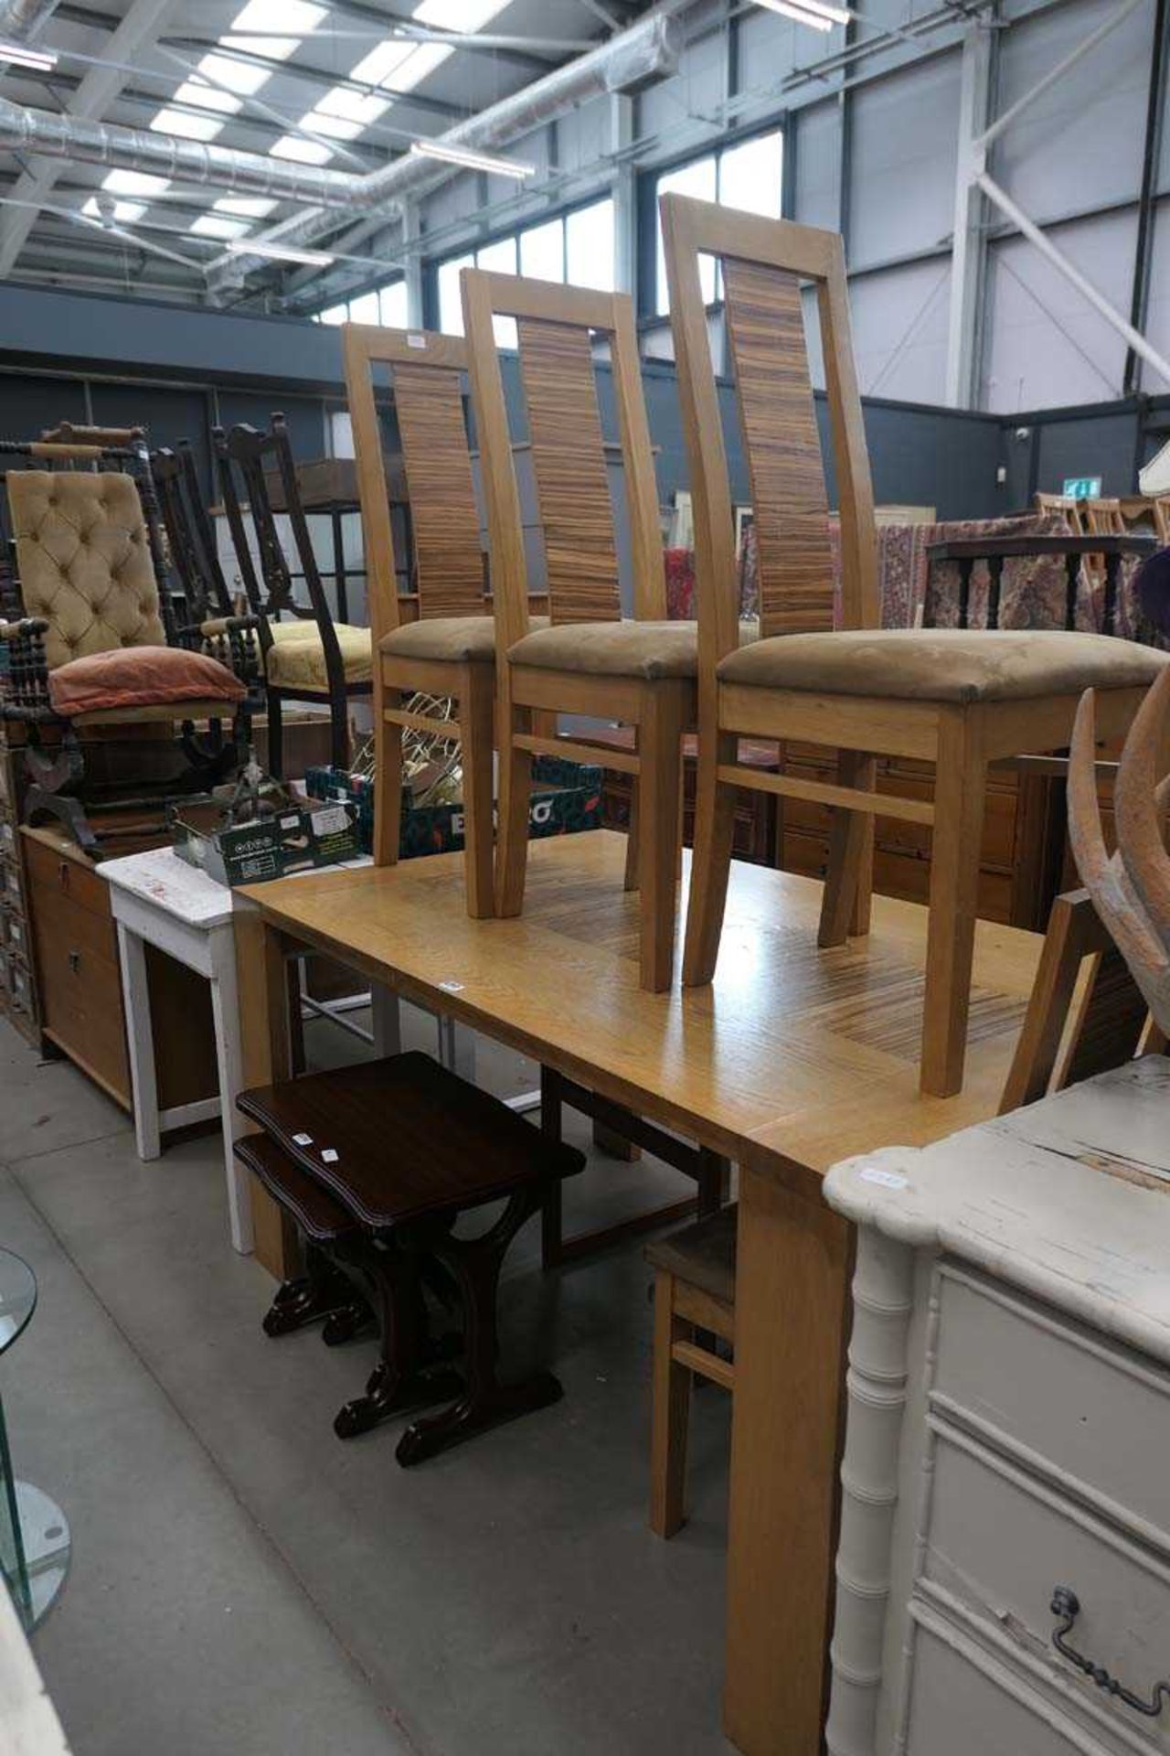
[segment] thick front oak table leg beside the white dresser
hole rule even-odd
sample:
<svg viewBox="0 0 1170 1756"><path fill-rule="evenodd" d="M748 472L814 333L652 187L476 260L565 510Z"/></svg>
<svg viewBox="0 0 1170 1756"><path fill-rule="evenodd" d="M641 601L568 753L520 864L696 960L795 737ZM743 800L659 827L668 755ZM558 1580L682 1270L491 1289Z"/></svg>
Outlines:
<svg viewBox="0 0 1170 1756"><path fill-rule="evenodd" d="M828 1698L853 1234L740 1166L723 1728L816 1756Z"/></svg>

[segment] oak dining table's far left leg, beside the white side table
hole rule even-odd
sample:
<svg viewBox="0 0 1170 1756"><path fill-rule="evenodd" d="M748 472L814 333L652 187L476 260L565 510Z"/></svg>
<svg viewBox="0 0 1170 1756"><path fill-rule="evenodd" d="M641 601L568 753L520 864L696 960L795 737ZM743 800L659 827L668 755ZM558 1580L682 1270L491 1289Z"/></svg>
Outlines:
<svg viewBox="0 0 1170 1756"><path fill-rule="evenodd" d="M265 925L258 908L240 899L232 917L235 927L235 980L240 1017L240 1083L270 1085L289 1078L288 985L284 943ZM240 1117L240 1134L258 1133ZM300 1273L296 1227L272 1196L251 1180L253 1250L277 1280Z"/></svg>

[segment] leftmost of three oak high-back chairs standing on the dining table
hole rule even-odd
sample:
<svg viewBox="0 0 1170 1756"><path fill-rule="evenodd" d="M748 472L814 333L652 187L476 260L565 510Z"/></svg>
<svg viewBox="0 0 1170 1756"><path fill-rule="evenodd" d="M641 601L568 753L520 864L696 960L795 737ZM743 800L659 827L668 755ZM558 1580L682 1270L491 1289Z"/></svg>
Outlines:
<svg viewBox="0 0 1170 1756"><path fill-rule="evenodd" d="M467 342L454 335L342 327L346 390L353 420L370 625L374 629L374 864L398 859L402 734L451 738L463 766L467 911L491 915L495 622L484 595L484 553L467 434ZM395 541L375 372L395 397L414 534L417 615L407 620L398 592ZM456 718L410 709L416 694L454 702Z"/></svg>

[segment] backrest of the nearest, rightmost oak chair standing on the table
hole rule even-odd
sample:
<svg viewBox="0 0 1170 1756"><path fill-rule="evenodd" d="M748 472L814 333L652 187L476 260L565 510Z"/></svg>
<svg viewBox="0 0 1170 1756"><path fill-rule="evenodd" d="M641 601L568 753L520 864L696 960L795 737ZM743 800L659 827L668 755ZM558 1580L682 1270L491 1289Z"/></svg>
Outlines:
<svg viewBox="0 0 1170 1756"><path fill-rule="evenodd" d="M842 622L875 627L877 527L853 362L842 242L682 195L661 198L667 279L691 469L700 674L738 646L738 571L700 256L723 274L728 353L751 481L760 632L833 627L828 492L802 283L816 288L840 502Z"/></svg>

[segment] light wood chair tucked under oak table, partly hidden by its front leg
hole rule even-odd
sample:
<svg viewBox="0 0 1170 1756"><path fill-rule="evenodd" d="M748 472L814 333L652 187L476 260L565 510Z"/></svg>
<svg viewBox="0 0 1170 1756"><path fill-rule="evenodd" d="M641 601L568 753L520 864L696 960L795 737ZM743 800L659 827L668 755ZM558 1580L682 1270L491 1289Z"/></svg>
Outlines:
<svg viewBox="0 0 1170 1756"><path fill-rule="evenodd" d="M737 1208L646 1247L654 1268L654 1426L651 1440L651 1529L674 1536L686 1522L686 1438L691 1377L730 1391L735 1368L700 1343L696 1329L735 1340Z"/></svg>

